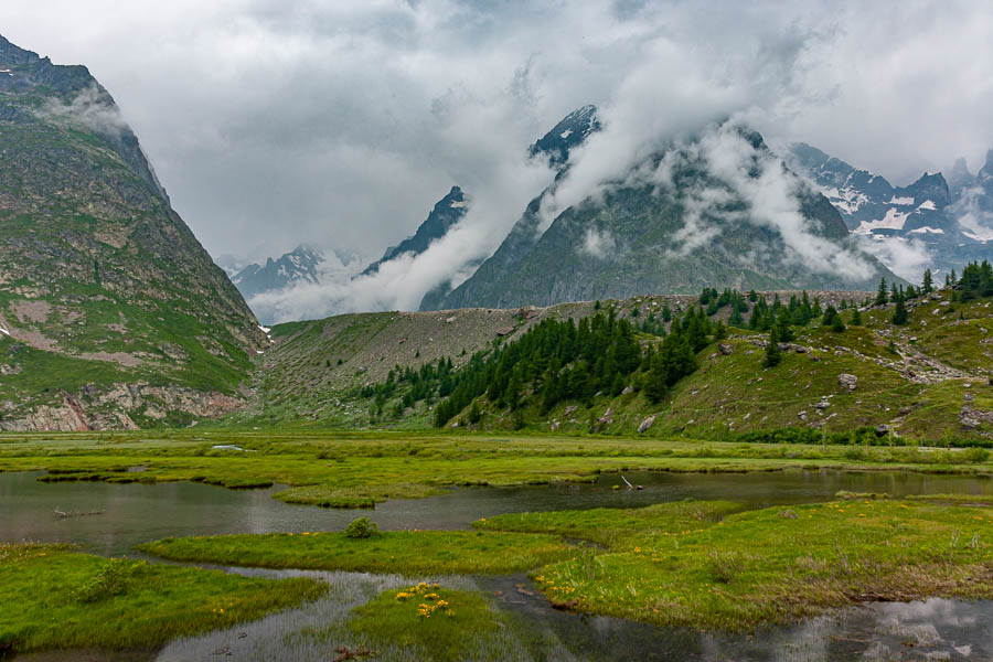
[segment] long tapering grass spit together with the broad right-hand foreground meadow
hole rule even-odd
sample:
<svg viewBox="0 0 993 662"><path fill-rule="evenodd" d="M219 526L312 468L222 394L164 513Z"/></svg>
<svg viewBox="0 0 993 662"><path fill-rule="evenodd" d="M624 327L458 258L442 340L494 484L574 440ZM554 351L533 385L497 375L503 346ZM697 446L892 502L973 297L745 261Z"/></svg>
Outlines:
<svg viewBox="0 0 993 662"><path fill-rule="evenodd" d="M473 534L381 533L349 541L353 548L345 552L343 534L302 544L299 535L167 538L142 549L200 563L235 563L244 554L248 565L407 576L530 564L554 606L701 630L788 623L864 601L993 598L993 510L986 508L850 498L744 511L729 502L683 501L499 515L474 526L484 542L449 545L440 560L419 551ZM508 536L499 545L487 538L498 532ZM538 540L554 560L526 552ZM594 545L576 544L581 541ZM340 556L323 560L322 552Z"/></svg>

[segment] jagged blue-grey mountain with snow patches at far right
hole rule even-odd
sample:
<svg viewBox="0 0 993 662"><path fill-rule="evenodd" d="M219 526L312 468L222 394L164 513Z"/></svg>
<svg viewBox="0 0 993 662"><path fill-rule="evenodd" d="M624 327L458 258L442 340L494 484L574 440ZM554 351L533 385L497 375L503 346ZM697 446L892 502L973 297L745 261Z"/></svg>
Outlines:
<svg viewBox="0 0 993 662"><path fill-rule="evenodd" d="M990 255L987 242L993 237L968 222L960 223L968 206L981 212L989 195L979 185L982 174L972 175L963 160L952 171L952 185L938 172L923 173L908 186L894 186L884 177L802 142L790 146L789 162L810 178L841 213L848 229L868 239L866 248L883 259L890 253L888 243L893 241L914 242L927 250L930 257L917 266L920 271L929 266L946 274ZM993 172L993 163L985 169Z"/></svg>

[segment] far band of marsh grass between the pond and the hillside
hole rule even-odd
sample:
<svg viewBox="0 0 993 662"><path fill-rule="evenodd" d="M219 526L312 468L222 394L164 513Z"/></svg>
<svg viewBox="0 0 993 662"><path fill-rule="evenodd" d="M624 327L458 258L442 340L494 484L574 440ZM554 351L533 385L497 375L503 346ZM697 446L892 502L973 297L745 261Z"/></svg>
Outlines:
<svg viewBox="0 0 993 662"><path fill-rule="evenodd" d="M775 437L770 437L775 439ZM289 485L288 503L371 508L456 485L591 482L618 471L909 470L993 474L984 448L720 442L688 438L445 433L118 433L0 435L0 471L42 480ZM215 448L236 446L233 448ZM241 449L241 450L238 450Z"/></svg>

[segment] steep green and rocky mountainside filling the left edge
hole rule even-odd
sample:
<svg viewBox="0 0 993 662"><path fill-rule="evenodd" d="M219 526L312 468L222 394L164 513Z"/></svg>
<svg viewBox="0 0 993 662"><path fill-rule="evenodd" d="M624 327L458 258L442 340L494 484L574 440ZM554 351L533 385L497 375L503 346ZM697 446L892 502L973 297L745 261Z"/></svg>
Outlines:
<svg viewBox="0 0 993 662"><path fill-rule="evenodd" d="M268 346L84 66L0 38L0 428L190 423Z"/></svg>

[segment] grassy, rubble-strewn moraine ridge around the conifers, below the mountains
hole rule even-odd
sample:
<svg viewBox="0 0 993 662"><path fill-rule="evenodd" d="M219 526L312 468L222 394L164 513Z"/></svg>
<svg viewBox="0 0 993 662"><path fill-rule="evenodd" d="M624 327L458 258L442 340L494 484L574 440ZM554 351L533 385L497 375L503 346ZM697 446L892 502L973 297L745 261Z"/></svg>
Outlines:
<svg viewBox="0 0 993 662"><path fill-rule="evenodd" d="M767 302L799 292L762 292ZM477 401L479 420L457 416L470 429L621 435L687 435L726 439L770 429L848 431L869 426L880 438L891 430L908 438L993 439L993 299L955 300L952 290L912 300L909 323L891 323L894 306L872 306L872 292L816 291L821 306L841 307L847 328L819 320L797 329L780 345L782 361L762 365L769 333L732 328L726 340L696 355L698 367L653 403L644 392L597 393L589 402L566 401L548 412L525 404L522 416L505 406ZM863 303L861 324L854 309ZM456 373L474 352L511 343L548 319L583 319L612 310L636 328L662 320L666 309L684 314L691 296L647 296L513 310L339 316L276 327L277 341L263 357L259 399L233 425L303 425L354 428L428 428L437 397L403 406L406 389L378 402L363 387L382 384L389 372L419 371L451 360ZM747 319L756 303L749 302ZM714 319L727 320L723 308ZM639 334L641 343L660 343ZM397 370L397 366L401 370ZM525 392L526 396L527 393ZM525 399L525 403L531 402Z"/></svg>

